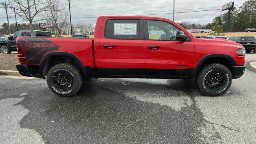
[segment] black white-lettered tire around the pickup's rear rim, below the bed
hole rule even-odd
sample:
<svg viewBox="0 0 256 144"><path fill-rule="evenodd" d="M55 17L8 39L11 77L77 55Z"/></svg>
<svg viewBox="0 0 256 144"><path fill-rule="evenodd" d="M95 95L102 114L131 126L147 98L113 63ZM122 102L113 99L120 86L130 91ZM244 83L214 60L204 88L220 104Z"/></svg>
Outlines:
<svg viewBox="0 0 256 144"><path fill-rule="evenodd" d="M69 90L66 90L66 91L60 90L56 86L54 86L54 74L60 71L69 73L73 80L72 86L70 87ZM68 63L61 63L53 66L48 71L46 81L47 81L48 87L50 88L50 90L52 90L54 94L62 97L73 96L74 94L76 94L78 90L80 90L82 86L82 75L78 70L78 68L76 68L76 66Z"/></svg>

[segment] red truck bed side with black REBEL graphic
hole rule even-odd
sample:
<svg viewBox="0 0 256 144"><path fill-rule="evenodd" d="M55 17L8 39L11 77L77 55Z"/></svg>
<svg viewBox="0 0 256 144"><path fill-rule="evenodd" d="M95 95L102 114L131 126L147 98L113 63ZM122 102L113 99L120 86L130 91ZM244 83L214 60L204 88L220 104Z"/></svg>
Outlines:
<svg viewBox="0 0 256 144"><path fill-rule="evenodd" d="M18 37L24 57L20 63L40 65L44 56L50 52L70 52L76 55L84 66L94 67L92 38Z"/></svg>

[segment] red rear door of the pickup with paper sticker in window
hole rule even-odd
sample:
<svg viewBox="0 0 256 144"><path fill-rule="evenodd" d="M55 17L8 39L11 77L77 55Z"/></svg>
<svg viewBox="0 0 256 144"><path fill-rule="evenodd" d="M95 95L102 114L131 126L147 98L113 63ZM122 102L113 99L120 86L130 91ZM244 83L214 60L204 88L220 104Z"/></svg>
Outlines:
<svg viewBox="0 0 256 144"><path fill-rule="evenodd" d="M143 20L105 19L100 37L99 75L129 77L144 75L145 40Z"/></svg>

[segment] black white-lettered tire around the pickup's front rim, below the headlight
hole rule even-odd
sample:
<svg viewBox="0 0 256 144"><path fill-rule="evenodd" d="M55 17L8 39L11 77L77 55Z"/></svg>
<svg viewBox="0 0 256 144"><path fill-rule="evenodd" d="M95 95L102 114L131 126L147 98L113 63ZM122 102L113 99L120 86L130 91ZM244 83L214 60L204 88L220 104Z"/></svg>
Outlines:
<svg viewBox="0 0 256 144"><path fill-rule="evenodd" d="M207 86L204 84L205 78L206 76L213 71L220 71L224 73L224 76L226 76L226 81L224 82L224 86L223 88L221 88L220 90L210 90L207 88ZM220 96L222 94L224 94L231 86L232 84L232 73L230 72L230 70L219 63L210 63L210 64L206 64L203 68L200 69L200 71L198 72L197 76L196 76L196 83L198 85L198 88L200 89L200 91L205 94L206 96Z"/></svg>

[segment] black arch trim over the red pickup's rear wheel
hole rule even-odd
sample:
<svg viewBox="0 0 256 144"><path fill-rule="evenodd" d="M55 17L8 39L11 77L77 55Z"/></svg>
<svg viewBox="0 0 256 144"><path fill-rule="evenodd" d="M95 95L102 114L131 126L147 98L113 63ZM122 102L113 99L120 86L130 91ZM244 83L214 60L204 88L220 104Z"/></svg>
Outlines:
<svg viewBox="0 0 256 144"><path fill-rule="evenodd" d="M50 60L53 56L69 56L69 57L73 58L77 62L78 68L80 68L80 70L82 72L82 76L84 78L87 77L87 73L86 73L86 70L84 69L84 65L82 64L81 60L75 54L72 54L70 52L58 51L58 52L49 52L42 58L42 60L40 62L40 66L39 66L39 73L42 74L43 79L45 79L45 75L48 70Z"/></svg>

